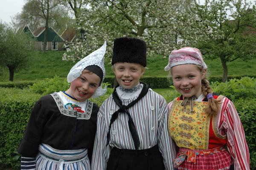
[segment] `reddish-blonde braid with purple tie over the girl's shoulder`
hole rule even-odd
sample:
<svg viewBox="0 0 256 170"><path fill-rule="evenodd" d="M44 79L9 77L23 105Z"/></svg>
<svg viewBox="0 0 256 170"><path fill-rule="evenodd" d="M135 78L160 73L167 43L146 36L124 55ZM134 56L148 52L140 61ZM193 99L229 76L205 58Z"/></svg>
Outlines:
<svg viewBox="0 0 256 170"><path fill-rule="evenodd" d="M204 96L207 96L208 94L212 94L212 88L209 84L209 81L206 78L202 80L202 93ZM208 104L204 109L205 113L209 117L216 115L219 111L219 103L220 101L216 100L215 98L209 98Z"/></svg>

